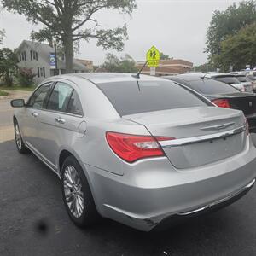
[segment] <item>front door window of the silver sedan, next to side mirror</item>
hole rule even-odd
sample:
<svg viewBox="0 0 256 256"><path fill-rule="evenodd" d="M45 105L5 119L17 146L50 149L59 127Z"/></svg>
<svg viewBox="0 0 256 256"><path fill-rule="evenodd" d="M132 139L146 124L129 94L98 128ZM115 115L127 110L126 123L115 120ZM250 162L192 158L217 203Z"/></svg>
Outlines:
<svg viewBox="0 0 256 256"><path fill-rule="evenodd" d="M44 100L49 93L50 85L51 83L47 83L40 86L31 96L27 106L37 109L44 108Z"/></svg>

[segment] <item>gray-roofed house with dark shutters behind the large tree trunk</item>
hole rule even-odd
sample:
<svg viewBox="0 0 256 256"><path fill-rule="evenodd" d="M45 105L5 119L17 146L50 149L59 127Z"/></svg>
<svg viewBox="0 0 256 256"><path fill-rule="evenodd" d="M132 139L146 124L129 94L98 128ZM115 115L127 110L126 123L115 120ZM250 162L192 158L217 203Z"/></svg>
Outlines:
<svg viewBox="0 0 256 256"><path fill-rule="evenodd" d="M23 40L15 52L18 55L18 67L32 68L32 72L36 74L34 78L36 84L55 73L66 73L65 59L62 55L57 56L58 70L50 66L50 55L54 54L55 49L49 44ZM88 72L88 68L80 61L73 59L73 73L80 72Z"/></svg>

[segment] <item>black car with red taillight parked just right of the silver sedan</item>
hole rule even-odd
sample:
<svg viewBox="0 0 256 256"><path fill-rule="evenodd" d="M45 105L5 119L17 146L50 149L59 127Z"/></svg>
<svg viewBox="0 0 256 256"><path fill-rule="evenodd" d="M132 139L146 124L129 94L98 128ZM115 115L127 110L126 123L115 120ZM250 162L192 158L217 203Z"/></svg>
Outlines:
<svg viewBox="0 0 256 256"><path fill-rule="evenodd" d="M209 74L182 74L165 78L201 93L218 107L240 109L248 120L250 132L256 132L255 95L241 93L229 84L211 79Z"/></svg>

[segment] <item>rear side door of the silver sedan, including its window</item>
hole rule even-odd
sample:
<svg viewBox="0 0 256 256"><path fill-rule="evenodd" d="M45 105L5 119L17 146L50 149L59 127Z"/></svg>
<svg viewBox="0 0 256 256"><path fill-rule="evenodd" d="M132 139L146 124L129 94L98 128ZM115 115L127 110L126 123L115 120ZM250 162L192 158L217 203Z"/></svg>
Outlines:
<svg viewBox="0 0 256 256"><path fill-rule="evenodd" d="M40 113L38 148L53 168L57 166L56 159L61 146L70 142L73 132L77 131L79 125L77 115L67 113L67 108L76 111L69 104L73 102L73 93L74 88L71 82L57 81L49 95L47 107Z"/></svg>

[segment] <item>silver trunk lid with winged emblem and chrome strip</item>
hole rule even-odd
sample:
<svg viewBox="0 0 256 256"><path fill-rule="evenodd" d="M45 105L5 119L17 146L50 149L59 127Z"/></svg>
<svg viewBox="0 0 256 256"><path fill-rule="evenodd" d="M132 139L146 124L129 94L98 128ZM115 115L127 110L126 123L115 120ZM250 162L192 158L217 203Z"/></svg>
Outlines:
<svg viewBox="0 0 256 256"><path fill-rule="evenodd" d="M241 112L225 108L179 108L124 116L144 125L178 169L202 166L239 154L246 143Z"/></svg>

